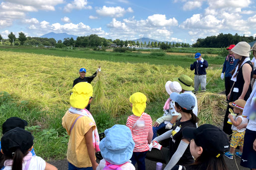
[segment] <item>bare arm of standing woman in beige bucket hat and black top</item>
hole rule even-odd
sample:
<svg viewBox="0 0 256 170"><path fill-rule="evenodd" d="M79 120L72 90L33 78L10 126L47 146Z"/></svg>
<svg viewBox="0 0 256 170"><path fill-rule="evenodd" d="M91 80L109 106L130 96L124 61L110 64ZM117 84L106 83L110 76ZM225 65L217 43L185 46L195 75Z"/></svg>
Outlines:
<svg viewBox="0 0 256 170"><path fill-rule="evenodd" d="M246 93L248 91L248 88L249 88L250 82L251 82L251 72L252 72L251 65L248 64L248 63L245 63L243 65L243 77L244 77L244 80L245 80L245 84L244 84L244 87L243 87L242 94L238 99L243 99L244 100L244 98L246 96Z"/></svg>

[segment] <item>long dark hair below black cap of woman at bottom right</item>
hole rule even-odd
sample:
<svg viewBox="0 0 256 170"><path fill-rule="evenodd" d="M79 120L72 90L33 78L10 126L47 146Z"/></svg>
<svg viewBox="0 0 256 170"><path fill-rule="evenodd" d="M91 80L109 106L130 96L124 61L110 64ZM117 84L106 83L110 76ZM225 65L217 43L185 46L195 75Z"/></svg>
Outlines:
<svg viewBox="0 0 256 170"><path fill-rule="evenodd" d="M216 158L204 151L196 159L195 163L191 165L191 167L194 166L198 167L198 170L228 170L223 155L219 158Z"/></svg>

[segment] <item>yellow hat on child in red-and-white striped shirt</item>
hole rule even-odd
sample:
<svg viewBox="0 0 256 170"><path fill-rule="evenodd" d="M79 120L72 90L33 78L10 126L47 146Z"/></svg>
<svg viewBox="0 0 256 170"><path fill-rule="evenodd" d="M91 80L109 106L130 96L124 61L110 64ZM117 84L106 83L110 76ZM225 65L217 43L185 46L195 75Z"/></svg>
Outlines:
<svg viewBox="0 0 256 170"><path fill-rule="evenodd" d="M146 109L146 96L143 93L136 92L130 96L130 103L132 103L132 113L140 116Z"/></svg>

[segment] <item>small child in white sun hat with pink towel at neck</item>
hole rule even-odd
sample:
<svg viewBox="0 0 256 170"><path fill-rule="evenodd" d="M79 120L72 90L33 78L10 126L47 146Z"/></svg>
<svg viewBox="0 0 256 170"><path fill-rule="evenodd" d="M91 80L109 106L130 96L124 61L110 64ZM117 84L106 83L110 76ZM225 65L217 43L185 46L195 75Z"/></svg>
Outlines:
<svg viewBox="0 0 256 170"><path fill-rule="evenodd" d="M165 84L165 90L168 95L171 95L172 92L180 93L181 86L177 81L167 81ZM163 116L159 117L154 125L153 125L153 138L157 136L157 131L161 129L171 129L172 125L175 123L176 120L180 119L181 114L175 111L175 103L169 97L164 104L163 107Z"/></svg>

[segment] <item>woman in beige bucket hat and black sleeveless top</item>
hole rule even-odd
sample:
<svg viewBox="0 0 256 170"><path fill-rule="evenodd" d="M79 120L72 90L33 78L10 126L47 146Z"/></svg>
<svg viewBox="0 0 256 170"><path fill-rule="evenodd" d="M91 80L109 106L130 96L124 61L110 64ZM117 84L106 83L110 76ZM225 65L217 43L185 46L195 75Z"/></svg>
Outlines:
<svg viewBox="0 0 256 170"><path fill-rule="evenodd" d="M251 46L247 42L239 42L233 49L231 49L234 53L234 57L239 59L239 62L237 63L236 68L232 71L231 80L234 81L234 83L227 97L230 102L238 99L247 101L252 92L250 82L253 77L253 64L250 61L250 50ZM232 134L231 124L227 123L230 108L231 107L228 105L223 123L223 131L228 135Z"/></svg>

